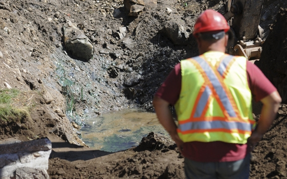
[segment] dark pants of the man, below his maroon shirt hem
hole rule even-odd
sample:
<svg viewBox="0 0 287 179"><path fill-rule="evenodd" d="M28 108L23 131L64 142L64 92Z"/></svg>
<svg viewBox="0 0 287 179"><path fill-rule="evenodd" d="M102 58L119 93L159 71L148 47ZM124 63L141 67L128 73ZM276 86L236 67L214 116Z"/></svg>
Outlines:
<svg viewBox="0 0 287 179"><path fill-rule="evenodd" d="M248 179L251 154L234 162L195 162L184 159L186 179Z"/></svg>

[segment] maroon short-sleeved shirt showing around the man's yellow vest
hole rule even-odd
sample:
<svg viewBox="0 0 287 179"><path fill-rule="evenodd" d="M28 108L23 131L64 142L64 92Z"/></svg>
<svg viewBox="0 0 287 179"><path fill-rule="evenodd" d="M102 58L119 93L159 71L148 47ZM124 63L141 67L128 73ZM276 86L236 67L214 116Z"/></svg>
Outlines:
<svg viewBox="0 0 287 179"><path fill-rule="evenodd" d="M255 101L260 101L277 90L256 65L247 62L246 68L249 88ZM179 98L180 90L181 69L178 63L155 96L174 105ZM247 144L194 141L184 143L182 155L197 162L232 162L244 159L249 152Z"/></svg>

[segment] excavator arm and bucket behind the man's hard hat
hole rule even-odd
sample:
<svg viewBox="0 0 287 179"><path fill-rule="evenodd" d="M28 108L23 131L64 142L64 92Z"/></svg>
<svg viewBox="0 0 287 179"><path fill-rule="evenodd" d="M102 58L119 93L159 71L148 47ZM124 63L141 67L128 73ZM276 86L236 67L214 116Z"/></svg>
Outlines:
<svg viewBox="0 0 287 179"><path fill-rule="evenodd" d="M258 60L262 52L263 29L259 26L264 0L228 0L229 41L227 53Z"/></svg>

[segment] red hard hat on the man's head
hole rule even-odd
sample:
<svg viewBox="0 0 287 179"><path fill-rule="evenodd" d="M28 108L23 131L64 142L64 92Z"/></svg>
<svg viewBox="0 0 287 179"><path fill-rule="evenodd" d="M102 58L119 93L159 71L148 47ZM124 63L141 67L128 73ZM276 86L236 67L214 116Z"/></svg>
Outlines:
<svg viewBox="0 0 287 179"><path fill-rule="evenodd" d="M215 30L224 30L224 32L227 32L229 29L230 27L221 13L208 9L200 14L196 20L193 35L196 36L197 33Z"/></svg>

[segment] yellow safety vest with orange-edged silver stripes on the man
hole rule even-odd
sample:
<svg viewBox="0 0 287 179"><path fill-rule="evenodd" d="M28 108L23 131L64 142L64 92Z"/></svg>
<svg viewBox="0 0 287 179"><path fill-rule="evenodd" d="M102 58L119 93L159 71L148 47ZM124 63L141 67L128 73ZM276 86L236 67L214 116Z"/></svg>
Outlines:
<svg viewBox="0 0 287 179"><path fill-rule="evenodd" d="M183 142L245 144L256 122L246 58L207 52L182 60L181 91L175 104Z"/></svg>

